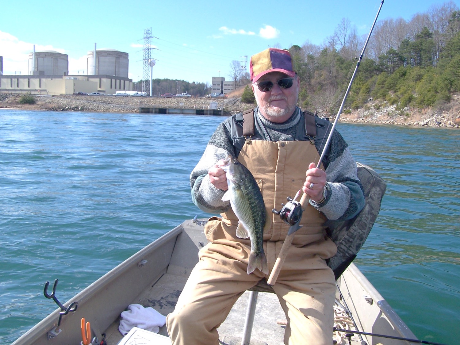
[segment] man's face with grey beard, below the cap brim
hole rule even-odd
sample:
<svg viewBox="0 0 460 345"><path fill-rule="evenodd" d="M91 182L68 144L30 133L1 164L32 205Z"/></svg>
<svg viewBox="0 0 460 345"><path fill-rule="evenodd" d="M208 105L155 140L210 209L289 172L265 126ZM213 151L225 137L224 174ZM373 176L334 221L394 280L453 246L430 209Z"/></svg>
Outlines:
<svg viewBox="0 0 460 345"><path fill-rule="evenodd" d="M299 78L293 79L293 85L288 89L281 88L277 84L282 78L290 77L281 72L271 72L263 75L255 84L252 84L260 113L271 122L281 123L287 121L293 115L297 104L300 86ZM273 83L270 91L263 92L259 90L257 84L264 81Z"/></svg>

